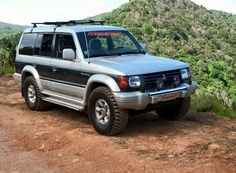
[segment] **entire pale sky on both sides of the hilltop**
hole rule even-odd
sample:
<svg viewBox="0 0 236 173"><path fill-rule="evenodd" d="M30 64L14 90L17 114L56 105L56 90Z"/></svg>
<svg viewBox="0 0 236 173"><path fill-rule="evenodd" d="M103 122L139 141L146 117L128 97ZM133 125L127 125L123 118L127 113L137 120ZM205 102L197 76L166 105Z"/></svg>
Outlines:
<svg viewBox="0 0 236 173"><path fill-rule="evenodd" d="M32 22L78 20L109 12L129 0L0 0L0 21ZM236 14L236 0L192 0L207 9Z"/></svg>

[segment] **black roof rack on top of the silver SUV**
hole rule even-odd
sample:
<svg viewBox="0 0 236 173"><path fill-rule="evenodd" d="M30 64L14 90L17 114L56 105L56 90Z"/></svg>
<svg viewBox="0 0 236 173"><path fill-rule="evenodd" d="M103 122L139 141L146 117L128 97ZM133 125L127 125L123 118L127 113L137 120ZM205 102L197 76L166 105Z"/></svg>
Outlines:
<svg viewBox="0 0 236 173"><path fill-rule="evenodd" d="M70 20L70 21L61 21L61 22L43 22L43 23L32 23L33 27L37 27L37 25L56 25L56 27L65 26L73 26L73 25L104 25L105 21L95 21L95 20Z"/></svg>

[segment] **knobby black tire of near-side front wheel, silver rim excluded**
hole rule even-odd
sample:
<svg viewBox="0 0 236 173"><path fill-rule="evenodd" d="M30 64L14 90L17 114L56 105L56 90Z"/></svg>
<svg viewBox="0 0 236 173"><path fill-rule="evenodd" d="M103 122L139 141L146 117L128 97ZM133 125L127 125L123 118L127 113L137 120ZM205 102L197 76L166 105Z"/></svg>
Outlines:
<svg viewBox="0 0 236 173"><path fill-rule="evenodd" d="M110 109L110 119L106 125L99 123L96 117L95 105L99 99L105 100ZM95 130L102 135L117 135L128 124L128 112L119 109L112 92L107 87L98 87L92 91L88 100L88 114Z"/></svg>

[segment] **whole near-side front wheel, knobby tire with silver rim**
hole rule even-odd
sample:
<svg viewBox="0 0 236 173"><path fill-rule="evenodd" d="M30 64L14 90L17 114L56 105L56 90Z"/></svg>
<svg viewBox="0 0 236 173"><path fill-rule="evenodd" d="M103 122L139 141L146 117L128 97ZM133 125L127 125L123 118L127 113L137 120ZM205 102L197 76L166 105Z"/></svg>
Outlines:
<svg viewBox="0 0 236 173"><path fill-rule="evenodd" d="M88 114L95 130L102 135L121 133L128 124L128 113L119 109L112 92L98 87L89 97Z"/></svg>

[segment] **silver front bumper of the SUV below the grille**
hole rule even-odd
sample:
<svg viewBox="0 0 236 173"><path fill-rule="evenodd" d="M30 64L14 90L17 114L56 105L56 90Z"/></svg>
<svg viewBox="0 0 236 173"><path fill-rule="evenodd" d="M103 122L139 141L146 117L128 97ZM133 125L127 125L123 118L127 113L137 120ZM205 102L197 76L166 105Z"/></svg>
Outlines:
<svg viewBox="0 0 236 173"><path fill-rule="evenodd" d="M190 97L197 89L197 83L192 85L182 84L178 88L157 92L142 93L135 92L114 92L114 97L121 109L144 110L149 104L175 100L178 98Z"/></svg>

